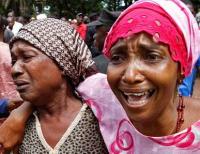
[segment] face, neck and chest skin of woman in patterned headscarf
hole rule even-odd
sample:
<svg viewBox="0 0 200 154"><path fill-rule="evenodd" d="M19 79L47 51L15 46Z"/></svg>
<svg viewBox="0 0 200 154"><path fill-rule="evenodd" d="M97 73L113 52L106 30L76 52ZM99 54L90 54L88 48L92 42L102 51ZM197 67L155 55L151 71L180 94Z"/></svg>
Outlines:
<svg viewBox="0 0 200 154"><path fill-rule="evenodd" d="M26 42L17 41L11 53L12 75L17 90L36 108L44 138L51 147L55 147L82 103L74 96L62 71L41 51Z"/></svg>

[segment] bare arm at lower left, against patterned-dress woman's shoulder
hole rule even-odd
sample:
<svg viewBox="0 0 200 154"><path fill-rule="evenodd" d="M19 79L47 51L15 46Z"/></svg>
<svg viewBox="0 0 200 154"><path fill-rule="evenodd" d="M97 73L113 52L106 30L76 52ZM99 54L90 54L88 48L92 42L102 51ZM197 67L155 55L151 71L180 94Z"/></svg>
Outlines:
<svg viewBox="0 0 200 154"><path fill-rule="evenodd" d="M0 144L7 149L21 143L24 135L25 123L32 114L33 108L30 103L24 102L14 109L10 116L0 126ZM0 148L1 153L2 148Z"/></svg>

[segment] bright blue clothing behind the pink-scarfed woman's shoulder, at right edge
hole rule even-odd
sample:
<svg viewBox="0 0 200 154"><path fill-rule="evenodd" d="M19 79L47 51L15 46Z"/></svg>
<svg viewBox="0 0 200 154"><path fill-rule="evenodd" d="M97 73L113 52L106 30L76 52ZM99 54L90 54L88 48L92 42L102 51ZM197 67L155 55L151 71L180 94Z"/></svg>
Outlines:
<svg viewBox="0 0 200 154"><path fill-rule="evenodd" d="M197 75L197 68L200 66L200 58L197 60L195 67L191 74L184 78L182 84L179 86L178 91L182 96L192 96L194 81Z"/></svg>

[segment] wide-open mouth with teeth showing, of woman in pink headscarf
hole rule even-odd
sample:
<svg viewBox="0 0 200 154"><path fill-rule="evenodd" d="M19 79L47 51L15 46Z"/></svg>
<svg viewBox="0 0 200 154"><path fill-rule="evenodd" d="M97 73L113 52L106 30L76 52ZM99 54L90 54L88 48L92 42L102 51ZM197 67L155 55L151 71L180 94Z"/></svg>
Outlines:
<svg viewBox="0 0 200 154"><path fill-rule="evenodd" d="M138 92L123 92L123 95L128 105L139 107L147 104L155 91L155 89L149 89Z"/></svg>

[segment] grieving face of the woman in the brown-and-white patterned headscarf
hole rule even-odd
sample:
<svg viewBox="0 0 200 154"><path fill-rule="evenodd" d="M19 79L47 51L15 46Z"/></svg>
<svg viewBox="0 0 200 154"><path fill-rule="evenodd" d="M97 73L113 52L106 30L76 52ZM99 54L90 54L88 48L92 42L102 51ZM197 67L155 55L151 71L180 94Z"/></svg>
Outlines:
<svg viewBox="0 0 200 154"><path fill-rule="evenodd" d="M11 55L12 76L24 100L41 105L61 87L61 70L37 48L25 41L17 41Z"/></svg>

